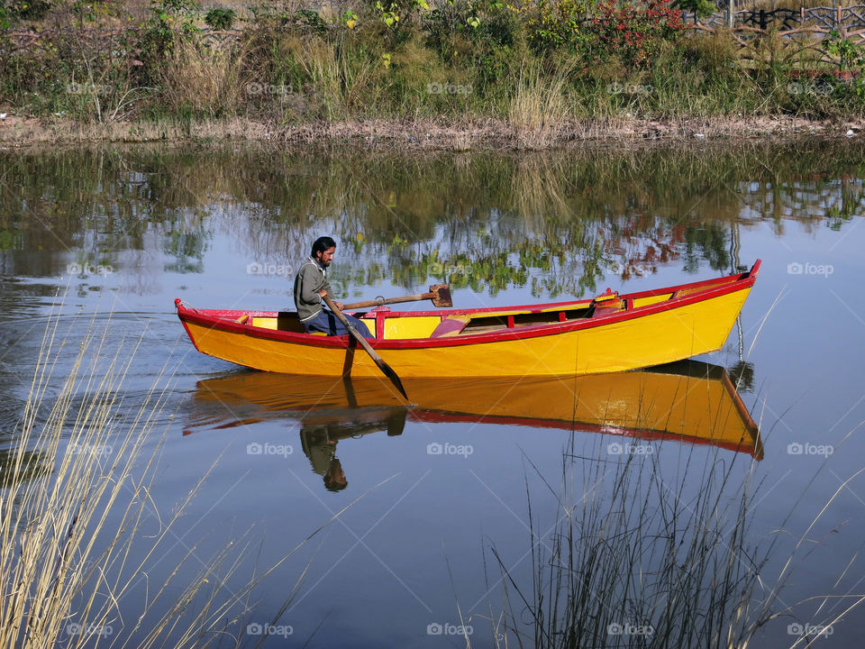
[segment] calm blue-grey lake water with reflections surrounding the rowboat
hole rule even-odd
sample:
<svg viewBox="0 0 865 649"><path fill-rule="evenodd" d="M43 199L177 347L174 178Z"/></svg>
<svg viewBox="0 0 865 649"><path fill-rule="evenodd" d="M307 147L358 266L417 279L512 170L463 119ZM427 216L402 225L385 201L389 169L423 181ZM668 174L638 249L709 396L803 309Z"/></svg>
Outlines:
<svg viewBox="0 0 865 649"><path fill-rule="evenodd" d="M145 448L159 465L142 534L195 491L147 563L150 579L188 555L169 588L179 596L235 542L235 570L214 586L229 600L291 553L232 627L242 645L464 646L460 626L472 646L505 646L505 635L515 645L517 634L533 645L533 565L551 552L563 487L595 476L587 467L630 459L684 510L715 489L713 467L736 483L731 493L750 480L745 545L760 574L751 599L767 598L779 576L783 586L755 645L790 646L825 626L817 646L856 646L865 617L844 612L865 594L863 180L852 142L0 151L0 440L11 442L22 416L47 324L75 343L57 354L49 397L88 330L107 331L106 349L141 339L121 416L154 384L167 387ZM762 267L724 349L697 363L612 378L430 381L411 391L409 409L378 381L259 374L195 351L175 297L290 307L297 265L321 234L338 242L339 297L445 281L460 307ZM699 396L687 414L683 386ZM706 443L705 425L743 441ZM601 501L614 474L589 480ZM639 561L652 571L657 559ZM123 597L107 640L130 638L146 597L143 584ZM627 616L611 609L604 623L660 625ZM605 645L643 641L611 633Z"/></svg>

